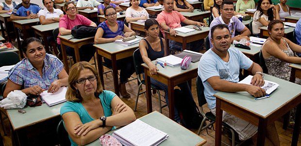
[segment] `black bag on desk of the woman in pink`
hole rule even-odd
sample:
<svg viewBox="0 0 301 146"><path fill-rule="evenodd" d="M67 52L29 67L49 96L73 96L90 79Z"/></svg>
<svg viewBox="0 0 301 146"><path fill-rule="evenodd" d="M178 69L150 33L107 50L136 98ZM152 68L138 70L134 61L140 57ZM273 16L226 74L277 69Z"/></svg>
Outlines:
<svg viewBox="0 0 301 146"><path fill-rule="evenodd" d="M72 28L71 35L73 38L82 39L95 36L96 31L97 27L94 26L76 25Z"/></svg>

